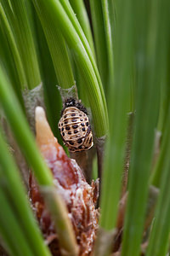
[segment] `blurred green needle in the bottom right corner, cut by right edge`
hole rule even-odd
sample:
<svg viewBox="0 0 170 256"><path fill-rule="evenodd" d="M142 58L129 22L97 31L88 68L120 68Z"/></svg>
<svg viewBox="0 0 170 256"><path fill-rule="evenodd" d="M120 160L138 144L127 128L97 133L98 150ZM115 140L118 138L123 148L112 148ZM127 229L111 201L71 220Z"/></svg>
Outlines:
<svg viewBox="0 0 170 256"><path fill-rule="evenodd" d="M166 131L164 140L167 141L164 150L164 161L161 163L161 185L160 196L156 207L155 221L150 233L149 246L147 248L146 256L165 256L167 255L170 234L170 111L168 113Z"/></svg>

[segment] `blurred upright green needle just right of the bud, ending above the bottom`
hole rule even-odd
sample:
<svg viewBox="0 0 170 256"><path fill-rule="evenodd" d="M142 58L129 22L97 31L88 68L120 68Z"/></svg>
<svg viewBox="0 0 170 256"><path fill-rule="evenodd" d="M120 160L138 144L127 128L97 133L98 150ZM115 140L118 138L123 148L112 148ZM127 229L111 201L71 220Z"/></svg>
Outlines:
<svg viewBox="0 0 170 256"><path fill-rule="evenodd" d="M101 217L99 224L105 230L116 225L120 198L123 162L127 137L127 113L132 84L133 32L130 4L119 1L115 35L115 78L108 90L110 134L105 149L102 178ZM127 14L127 15L126 15ZM126 38L124 40L123 38ZM103 254L105 255L105 254Z"/></svg>

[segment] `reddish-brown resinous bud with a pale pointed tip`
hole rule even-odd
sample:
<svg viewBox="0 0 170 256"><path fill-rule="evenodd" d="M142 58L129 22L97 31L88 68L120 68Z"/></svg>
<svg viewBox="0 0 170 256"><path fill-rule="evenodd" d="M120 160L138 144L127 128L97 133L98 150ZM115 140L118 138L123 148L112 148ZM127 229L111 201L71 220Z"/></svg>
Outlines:
<svg viewBox="0 0 170 256"><path fill-rule="evenodd" d="M42 108L36 109L37 145L40 148L48 168L54 176L54 184L59 195L65 201L68 216L75 231L79 256L90 255L98 229L98 182L89 185L82 175L75 160L71 160L54 137ZM37 183L30 175L30 199L45 241L53 255L61 255L58 236L54 222L38 189Z"/></svg>

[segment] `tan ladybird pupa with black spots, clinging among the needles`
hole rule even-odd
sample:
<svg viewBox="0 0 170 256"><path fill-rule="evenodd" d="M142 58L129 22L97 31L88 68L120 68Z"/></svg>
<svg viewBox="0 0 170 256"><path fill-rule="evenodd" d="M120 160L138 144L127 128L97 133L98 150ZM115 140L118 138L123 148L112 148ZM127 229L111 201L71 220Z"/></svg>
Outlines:
<svg viewBox="0 0 170 256"><path fill-rule="evenodd" d="M88 150L94 145L88 113L82 103L68 98L61 111L59 131L63 142L71 152Z"/></svg>

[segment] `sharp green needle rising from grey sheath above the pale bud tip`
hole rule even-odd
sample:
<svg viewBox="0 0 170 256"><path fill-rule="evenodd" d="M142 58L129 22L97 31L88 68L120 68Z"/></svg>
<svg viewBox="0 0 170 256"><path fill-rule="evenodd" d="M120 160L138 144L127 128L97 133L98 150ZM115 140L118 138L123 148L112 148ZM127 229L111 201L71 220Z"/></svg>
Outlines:
<svg viewBox="0 0 170 256"><path fill-rule="evenodd" d="M31 22L24 0L10 0L10 3L14 13L14 38L20 49L20 58L25 69L27 84L31 89L41 83Z"/></svg>

